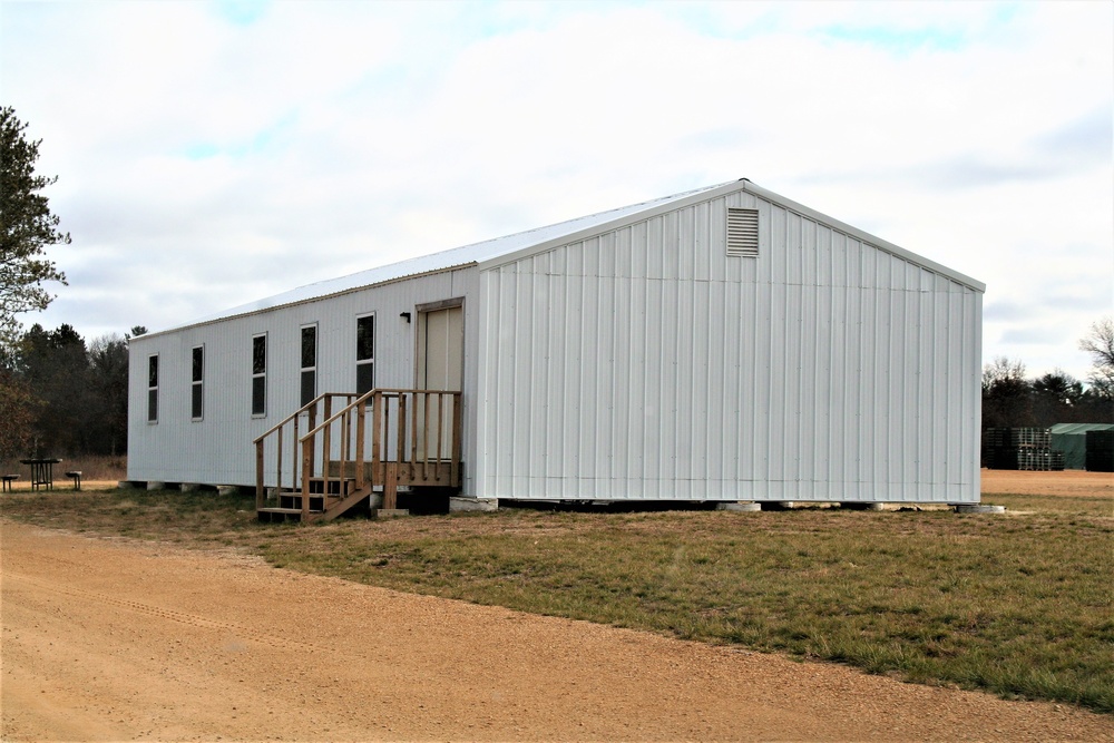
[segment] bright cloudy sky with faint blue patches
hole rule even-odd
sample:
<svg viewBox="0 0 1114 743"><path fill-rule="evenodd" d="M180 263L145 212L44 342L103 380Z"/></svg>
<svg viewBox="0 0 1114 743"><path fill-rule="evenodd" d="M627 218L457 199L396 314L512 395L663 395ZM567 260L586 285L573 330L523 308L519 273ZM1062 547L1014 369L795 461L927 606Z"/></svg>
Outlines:
<svg viewBox="0 0 1114 743"><path fill-rule="evenodd" d="M1114 314L1106 1L3 0L0 104L86 339L742 177L986 283L984 362Z"/></svg>

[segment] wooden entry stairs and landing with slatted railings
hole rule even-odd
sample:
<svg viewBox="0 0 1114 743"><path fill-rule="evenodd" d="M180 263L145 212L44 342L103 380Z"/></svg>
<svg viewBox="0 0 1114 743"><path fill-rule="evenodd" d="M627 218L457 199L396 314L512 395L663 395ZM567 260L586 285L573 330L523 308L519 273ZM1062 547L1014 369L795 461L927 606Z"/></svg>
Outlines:
<svg viewBox="0 0 1114 743"><path fill-rule="evenodd" d="M399 486L460 488L462 422L460 392L321 394L255 439L257 517L329 521L379 493L395 508Z"/></svg>

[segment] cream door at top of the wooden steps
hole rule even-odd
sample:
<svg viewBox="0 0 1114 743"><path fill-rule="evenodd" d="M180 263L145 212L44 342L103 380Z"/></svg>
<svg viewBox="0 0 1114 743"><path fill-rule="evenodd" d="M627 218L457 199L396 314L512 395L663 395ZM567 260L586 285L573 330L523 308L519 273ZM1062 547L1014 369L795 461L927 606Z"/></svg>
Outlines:
<svg viewBox="0 0 1114 743"><path fill-rule="evenodd" d="M447 307L418 313L418 370L414 387L419 390L459 391L465 371L463 307ZM437 427L441 424L441 458L451 456L452 401L444 399L444 409L433 402L429 409L430 458L437 457ZM439 418L440 414L440 418ZM426 458L426 409L418 408L418 457Z"/></svg>

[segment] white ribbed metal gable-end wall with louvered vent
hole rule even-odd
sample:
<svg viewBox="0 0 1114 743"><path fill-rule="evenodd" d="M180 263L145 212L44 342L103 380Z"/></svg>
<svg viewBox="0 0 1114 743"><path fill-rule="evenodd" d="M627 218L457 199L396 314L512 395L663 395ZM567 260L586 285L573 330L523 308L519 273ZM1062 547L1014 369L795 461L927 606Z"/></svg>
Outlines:
<svg viewBox="0 0 1114 743"><path fill-rule="evenodd" d="M981 293L752 194L486 268L480 305L479 496L978 500Z"/></svg>

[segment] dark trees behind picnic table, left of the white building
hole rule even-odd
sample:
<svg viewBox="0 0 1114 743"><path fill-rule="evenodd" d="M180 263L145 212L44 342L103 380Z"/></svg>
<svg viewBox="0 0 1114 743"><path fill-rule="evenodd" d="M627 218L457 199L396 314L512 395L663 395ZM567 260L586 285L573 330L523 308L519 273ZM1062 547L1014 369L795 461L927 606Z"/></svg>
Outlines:
<svg viewBox="0 0 1114 743"><path fill-rule="evenodd" d="M126 454L128 339L32 325L0 346L0 459Z"/></svg>

